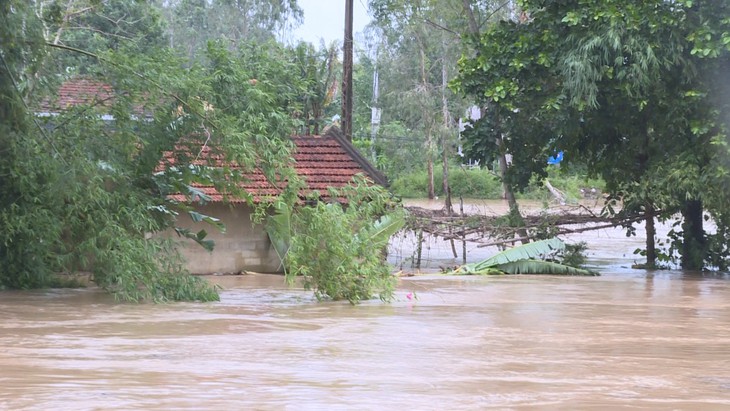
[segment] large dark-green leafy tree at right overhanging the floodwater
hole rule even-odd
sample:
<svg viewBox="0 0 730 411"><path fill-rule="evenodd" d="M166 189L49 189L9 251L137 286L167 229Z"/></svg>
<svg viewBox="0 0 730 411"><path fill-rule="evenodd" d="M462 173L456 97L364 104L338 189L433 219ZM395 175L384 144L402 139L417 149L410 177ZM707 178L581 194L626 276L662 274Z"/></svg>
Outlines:
<svg viewBox="0 0 730 411"><path fill-rule="evenodd" d="M460 62L455 86L502 115L477 122L473 146L498 148L484 138L505 127L516 157L512 174L524 184L544 173L555 149L585 160L607 182L622 213L643 215L647 265L654 266L655 217L684 218L682 266L701 268L706 256L701 181L719 176L712 141L723 108L713 103L702 73L727 54L723 2L523 1L520 21L503 21L478 41L477 54ZM696 33L713 27L718 42L697 51ZM713 37L715 36L715 37ZM705 54L706 53L706 54ZM714 56L714 57L713 57ZM706 60L701 60L704 57ZM716 72L716 69L713 69ZM500 110L495 109L495 114ZM525 156L527 154L527 156ZM700 255L696 258L691 255Z"/></svg>

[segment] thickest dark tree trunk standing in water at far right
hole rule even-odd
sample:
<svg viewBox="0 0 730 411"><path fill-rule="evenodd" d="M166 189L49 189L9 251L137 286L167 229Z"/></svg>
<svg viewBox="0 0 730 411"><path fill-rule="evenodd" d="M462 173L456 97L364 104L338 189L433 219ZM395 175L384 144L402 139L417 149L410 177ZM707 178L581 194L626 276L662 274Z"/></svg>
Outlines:
<svg viewBox="0 0 730 411"><path fill-rule="evenodd" d="M701 270L705 263L706 239L702 201L690 200L682 207L682 269Z"/></svg>

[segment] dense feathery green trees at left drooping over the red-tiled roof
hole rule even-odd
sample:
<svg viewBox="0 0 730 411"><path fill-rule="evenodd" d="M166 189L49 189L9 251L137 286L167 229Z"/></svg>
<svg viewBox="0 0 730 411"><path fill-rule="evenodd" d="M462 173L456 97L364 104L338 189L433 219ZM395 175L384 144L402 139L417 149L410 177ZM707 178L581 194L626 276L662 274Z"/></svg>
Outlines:
<svg viewBox="0 0 730 411"><path fill-rule="evenodd" d="M195 182L235 193L240 176L195 162L205 148L261 167L271 181L285 178L293 128L287 107L298 93L282 81L289 66L260 46L231 53L211 45L208 63L187 69L169 50L142 54L134 44L70 50L44 39L31 6L0 6L0 287L42 287L57 274L89 270L124 300L217 299L207 282L186 275L173 243L146 236L174 228L180 212L215 222L172 202L170 193L192 194ZM91 59L114 98L41 124L29 107L53 91L29 90L47 77L41 67L53 67L46 60L57 54L48 47ZM155 172L170 151L176 167ZM181 234L207 244L204 231Z"/></svg>

